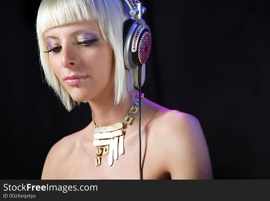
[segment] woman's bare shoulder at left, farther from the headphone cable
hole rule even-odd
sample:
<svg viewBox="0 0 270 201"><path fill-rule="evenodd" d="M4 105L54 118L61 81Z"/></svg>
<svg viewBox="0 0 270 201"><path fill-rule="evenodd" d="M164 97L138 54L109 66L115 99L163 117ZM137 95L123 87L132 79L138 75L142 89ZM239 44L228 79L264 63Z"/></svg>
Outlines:
<svg viewBox="0 0 270 201"><path fill-rule="evenodd" d="M57 179L62 171L61 165L78 143L80 132L65 136L52 146L44 162L41 179Z"/></svg>

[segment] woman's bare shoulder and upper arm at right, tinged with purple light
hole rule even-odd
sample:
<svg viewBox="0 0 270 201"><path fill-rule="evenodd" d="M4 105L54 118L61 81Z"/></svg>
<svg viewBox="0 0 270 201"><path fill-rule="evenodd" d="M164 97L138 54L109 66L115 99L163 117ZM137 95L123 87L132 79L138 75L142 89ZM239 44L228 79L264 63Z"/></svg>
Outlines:
<svg viewBox="0 0 270 201"><path fill-rule="evenodd" d="M213 179L210 155L199 120L178 110L157 109L153 119L160 157L172 179Z"/></svg>

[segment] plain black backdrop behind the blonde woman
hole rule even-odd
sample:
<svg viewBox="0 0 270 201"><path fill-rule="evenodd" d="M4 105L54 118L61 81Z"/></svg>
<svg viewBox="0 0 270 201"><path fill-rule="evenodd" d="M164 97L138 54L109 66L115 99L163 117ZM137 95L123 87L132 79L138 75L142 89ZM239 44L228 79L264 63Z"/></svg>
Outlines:
<svg viewBox="0 0 270 201"><path fill-rule="evenodd" d="M40 179L49 149L91 122L44 82L40 1L1 1L1 179ZM270 179L269 1L143 1L153 46L142 92L197 117L214 179ZM173 157L173 153L172 157Z"/></svg>

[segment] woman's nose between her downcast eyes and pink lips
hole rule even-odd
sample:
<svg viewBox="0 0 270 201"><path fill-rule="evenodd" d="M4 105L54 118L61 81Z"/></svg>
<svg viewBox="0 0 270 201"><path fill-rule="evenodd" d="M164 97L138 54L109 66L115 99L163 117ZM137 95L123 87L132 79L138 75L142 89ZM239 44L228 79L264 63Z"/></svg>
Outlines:
<svg viewBox="0 0 270 201"><path fill-rule="evenodd" d="M77 64L78 59L72 47L63 45L61 54L61 65L64 68L72 68Z"/></svg>

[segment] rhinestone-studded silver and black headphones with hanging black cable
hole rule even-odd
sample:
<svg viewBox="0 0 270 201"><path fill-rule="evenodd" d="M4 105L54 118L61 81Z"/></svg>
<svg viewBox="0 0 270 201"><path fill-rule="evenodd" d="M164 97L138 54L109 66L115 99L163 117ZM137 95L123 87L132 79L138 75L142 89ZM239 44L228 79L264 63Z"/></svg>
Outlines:
<svg viewBox="0 0 270 201"><path fill-rule="evenodd" d="M141 67L147 61L151 47L152 36L150 28L142 19L146 8L138 0L125 0L129 6L129 14L132 19L125 20L123 24L123 51L126 69L134 69L138 66L139 85L139 174L141 174Z"/></svg>

